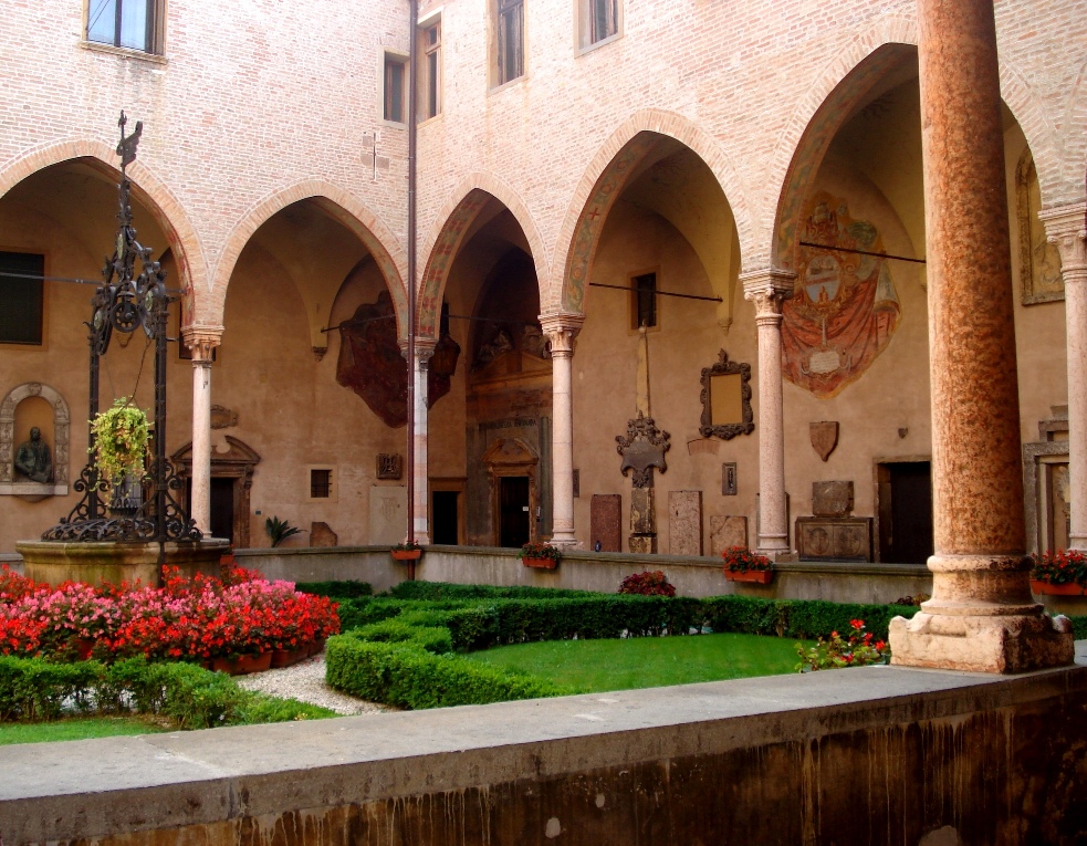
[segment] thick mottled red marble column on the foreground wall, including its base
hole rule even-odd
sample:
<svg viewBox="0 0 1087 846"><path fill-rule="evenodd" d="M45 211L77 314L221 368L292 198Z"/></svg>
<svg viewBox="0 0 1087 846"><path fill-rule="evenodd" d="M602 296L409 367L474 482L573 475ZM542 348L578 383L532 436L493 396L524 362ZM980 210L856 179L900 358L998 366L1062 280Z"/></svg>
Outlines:
<svg viewBox="0 0 1087 846"><path fill-rule="evenodd" d="M892 662L1018 672L1073 661L1031 594L992 0L919 0L932 394L932 598Z"/></svg>

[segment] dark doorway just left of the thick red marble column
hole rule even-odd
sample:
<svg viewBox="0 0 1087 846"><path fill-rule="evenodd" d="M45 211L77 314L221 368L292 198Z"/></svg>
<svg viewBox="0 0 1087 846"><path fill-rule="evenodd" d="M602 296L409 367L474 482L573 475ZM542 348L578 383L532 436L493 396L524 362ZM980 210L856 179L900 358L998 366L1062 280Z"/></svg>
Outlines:
<svg viewBox="0 0 1087 846"><path fill-rule="evenodd" d="M924 564L933 552L932 468L928 461L879 464L879 560Z"/></svg>

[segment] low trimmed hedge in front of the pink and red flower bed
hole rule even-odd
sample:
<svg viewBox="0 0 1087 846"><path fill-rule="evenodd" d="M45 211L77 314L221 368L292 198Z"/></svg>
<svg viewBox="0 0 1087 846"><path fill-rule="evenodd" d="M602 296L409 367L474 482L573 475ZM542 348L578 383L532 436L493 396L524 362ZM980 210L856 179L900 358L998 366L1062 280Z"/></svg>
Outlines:
<svg viewBox="0 0 1087 846"><path fill-rule="evenodd" d="M153 664L140 657L107 667L0 657L0 721L53 720L67 704L83 713L161 714L181 729L335 716L293 699L242 690L229 676L195 664Z"/></svg>

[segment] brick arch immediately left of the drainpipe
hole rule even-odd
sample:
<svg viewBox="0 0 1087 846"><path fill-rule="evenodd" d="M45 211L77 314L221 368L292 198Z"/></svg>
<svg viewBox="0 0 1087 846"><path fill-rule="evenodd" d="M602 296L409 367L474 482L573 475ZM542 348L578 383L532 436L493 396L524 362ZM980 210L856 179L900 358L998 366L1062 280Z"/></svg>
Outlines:
<svg viewBox="0 0 1087 846"><path fill-rule="evenodd" d="M238 257L261 224L276 212L299 200L313 200L330 217L353 232L369 251L385 278L385 285L393 297L400 334L407 334L408 297L401 269L407 267L404 247L396 234L374 212L342 188L320 179L306 179L280 189L254 203L227 236L222 252L212 274L211 295L213 313L205 313L201 322L222 323L223 305L230 276L238 264Z"/></svg>

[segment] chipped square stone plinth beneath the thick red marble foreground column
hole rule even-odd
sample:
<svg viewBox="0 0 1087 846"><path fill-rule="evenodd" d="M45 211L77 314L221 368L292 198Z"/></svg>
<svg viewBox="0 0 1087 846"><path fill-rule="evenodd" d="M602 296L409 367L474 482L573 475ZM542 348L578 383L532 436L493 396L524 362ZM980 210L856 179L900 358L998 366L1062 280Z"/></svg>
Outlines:
<svg viewBox="0 0 1087 846"><path fill-rule="evenodd" d="M918 613L890 622L891 664L964 672L1026 672L1075 661L1065 616Z"/></svg>

